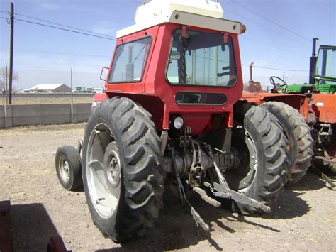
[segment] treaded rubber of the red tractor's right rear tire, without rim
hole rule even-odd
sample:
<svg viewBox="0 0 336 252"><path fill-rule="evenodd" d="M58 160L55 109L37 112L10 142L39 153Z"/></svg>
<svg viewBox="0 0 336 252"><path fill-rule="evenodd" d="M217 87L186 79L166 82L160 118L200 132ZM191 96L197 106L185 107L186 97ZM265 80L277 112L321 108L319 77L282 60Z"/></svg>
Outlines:
<svg viewBox="0 0 336 252"><path fill-rule="evenodd" d="M262 204L269 205L276 201L287 182L286 136L276 118L267 109L254 106L249 102L235 104L234 121L248 131L254 142L257 168L250 185L233 189ZM233 141L237 139L234 132ZM239 171L232 170L231 176L235 176L235 172ZM228 176L227 181L230 186ZM235 202L233 202L233 210L242 214L262 214L259 209Z"/></svg>

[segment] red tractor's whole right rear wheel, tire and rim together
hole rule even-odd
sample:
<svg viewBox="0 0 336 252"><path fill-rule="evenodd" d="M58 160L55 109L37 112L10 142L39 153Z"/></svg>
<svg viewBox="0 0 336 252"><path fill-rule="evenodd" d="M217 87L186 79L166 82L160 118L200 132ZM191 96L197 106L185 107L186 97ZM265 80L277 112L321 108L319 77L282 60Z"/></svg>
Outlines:
<svg viewBox="0 0 336 252"><path fill-rule="evenodd" d="M262 106L238 102L234 107L233 148L240 152L239 168L225 172L231 189L269 205L287 182L286 137L274 116ZM233 202L242 214L262 213Z"/></svg>

